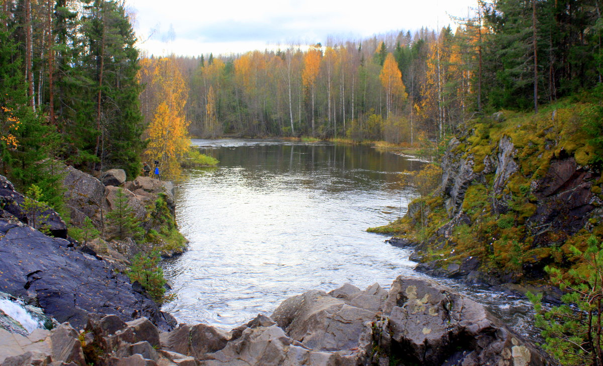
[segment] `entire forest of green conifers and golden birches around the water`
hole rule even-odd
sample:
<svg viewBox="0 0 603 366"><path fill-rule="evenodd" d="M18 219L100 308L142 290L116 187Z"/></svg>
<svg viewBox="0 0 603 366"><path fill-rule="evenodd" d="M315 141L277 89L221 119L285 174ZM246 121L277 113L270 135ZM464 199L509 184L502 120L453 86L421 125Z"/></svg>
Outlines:
<svg viewBox="0 0 603 366"><path fill-rule="evenodd" d="M438 142L501 108L598 96L599 1L479 1L470 14L455 31L141 57L122 0L0 0L1 173L54 196L48 158L177 172L198 158L191 135Z"/></svg>

